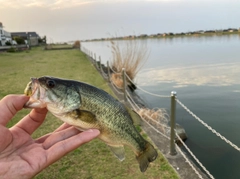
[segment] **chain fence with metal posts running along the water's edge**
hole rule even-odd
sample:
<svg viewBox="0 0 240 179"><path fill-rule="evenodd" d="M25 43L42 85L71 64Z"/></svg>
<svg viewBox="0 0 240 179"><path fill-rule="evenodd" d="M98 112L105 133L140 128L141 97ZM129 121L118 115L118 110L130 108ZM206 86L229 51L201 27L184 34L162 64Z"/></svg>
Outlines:
<svg viewBox="0 0 240 179"><path fill-rule="evenodd" d="M82 51L88 55L88 57L90 57L91 62L93 63L93 65L96 67L97 70L100 71L100 73L102 74L102 76L104 77L104 79L107 79L111 86L113 87L113 89L120 95L124 96L124 102L128 102L131 107L139 113L139 111L142 109L136 102L135 100L132 98L132 95L129 93L127 87L126 87L126 81L134 84L136 86L136 84L132 81L132 79L129 78L129 76L126 74L125 70L123 69L122 72L116 72L114 71L110 65L109 62L107 62L107 73L104 72L104 70L102 69L102 64L101 64L101 57L99 57L99 63L96 60L96 54L94 54L95 60L93 58L93 53L91 51L89 51L86 48L82 48ZM99 66L98 66L99 64ZM106 70L105 70L106 71ZM113 75L119 75L121 74L121 78L123 80L123 87L119 87L117 86L114 81L112 80L112 76ZM180 149L180 147L178 145L175 145L175 141L176 139L178 139L183 147L188 151L189 155L196 161L196 163L201 167L201 169L208 175L209 178L214 179L214 177L211 175L211 173L203 166L203 164L198 160L198 158L193 154L193 152L187 147L187 145L182 141L181 137L178 135L176 129L175 129L175 106L176 104L179 104L184 110L186 110L192 117L194 117L198 122L200 122L203 126L205 126L208 130L210 130L212 133L214 133L217 137L219 137L220 139L222 139L224 142L226 142L227 144L229 144L231 147L233 147L234 149L236 149L237 151L240 151L240 148L235 145L234 143L232 143L230 140L228 140L226 137L224 137L223 135L221 135L219 132L217 132L215 129L213 129L211 126L209 126L206 122L204 122L203 120L201 120L197 115L195 115L186 105L184 105L178 98L176 95L176 92L172 92L171 95L159 95L159 94L154 94L151 93L139 86L136 86L137 89L139 89L140 91L151 95L151 96L155 96L155 97L159 97L159 98L170 98L171 99L171 127L168 126L169 121L167 120L162 120L162 121L157 121L155 119L153 119L151 116L149 116L149 114L147 114L146 112L143 113L143 115L140 115L143 119L143 121L150 127L152 128L155 132L157 132L158 134L162 135L163 137L165 137L166 139L168 139L170 141L170 155L176 155L177 152L179 152L184 159L186 160L186 162L191 166L191 168L194 170L194 172L196 173L196 175L198 175L199 178L203 178L201 176L201 174L197 171L197 169L194 167L194 165L192 164L191 161L189 161L188 157L182 152L182 150ZM143 117L145 116L145 117ZM177 150L176 150L176 146L177 146ZM176 152L177 151L177 152Z"/></svg>

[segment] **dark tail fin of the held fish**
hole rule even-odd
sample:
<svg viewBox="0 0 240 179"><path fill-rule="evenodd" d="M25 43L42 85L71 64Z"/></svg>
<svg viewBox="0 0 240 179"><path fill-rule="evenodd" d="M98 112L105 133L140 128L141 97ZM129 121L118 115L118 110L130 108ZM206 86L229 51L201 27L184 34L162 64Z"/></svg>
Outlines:
<svg viewBox="0 0 240 179"><path fill-rule="evenodd" d="M141 172L145 172L147 170L149 163L154 161L157 158L157 156L158 156L157 151L149 142L147 142L145 150L136 157Z"/></svg>

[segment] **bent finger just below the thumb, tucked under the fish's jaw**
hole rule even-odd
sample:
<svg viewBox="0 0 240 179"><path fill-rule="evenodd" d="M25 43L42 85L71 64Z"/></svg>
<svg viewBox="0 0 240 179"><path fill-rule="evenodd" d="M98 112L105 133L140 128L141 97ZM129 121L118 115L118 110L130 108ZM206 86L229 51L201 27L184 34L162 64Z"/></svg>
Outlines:
<svg viewBox="0 0 240 179"><path fill-rule="evenodd" d="M33 109L27 116L19 121L13 128L18 127L31 135L44 121L47 115L46 108Z"/></svg>

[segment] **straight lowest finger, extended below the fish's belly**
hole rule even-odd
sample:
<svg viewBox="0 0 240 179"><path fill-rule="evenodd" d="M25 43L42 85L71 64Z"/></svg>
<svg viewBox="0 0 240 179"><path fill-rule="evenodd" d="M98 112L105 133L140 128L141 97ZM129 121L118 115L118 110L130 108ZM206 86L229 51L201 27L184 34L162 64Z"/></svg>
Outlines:
<svg viewBox="0 0 240 179"><path fill-rule="evenodd" d="M70 151L78 148L80 145L96 138L99 134L100 134L99 130L89 129L87 131L81 132L68 139L56 143L55 145L48 149L47 165L54 163L55 161L57 161Z"/></svg>

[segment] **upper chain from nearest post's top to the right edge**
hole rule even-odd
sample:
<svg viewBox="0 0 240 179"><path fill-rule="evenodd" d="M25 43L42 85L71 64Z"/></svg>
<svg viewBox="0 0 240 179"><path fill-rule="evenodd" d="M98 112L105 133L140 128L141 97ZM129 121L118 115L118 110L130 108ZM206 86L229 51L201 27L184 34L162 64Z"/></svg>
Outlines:
<svg viewBox="0 0 240 179"><path fill-rule="evenodd" d="M231 145L234 149L237 151L240 151L240 148L233 144L231 141L229 141L226 137L222 136L220 133L218 133L215 129L213 129L211 126L209 126L207 123L205 123L203 120L201 120L199 117L197 117L190 109L188 109L179 99L176 99L178 104L180 104L190 115L192 115L195 119L197 119L202 125L204 125L208 130L210 130L212 133L214 133L216 136L220 137L223 141Z"/></svg>

